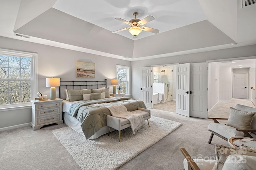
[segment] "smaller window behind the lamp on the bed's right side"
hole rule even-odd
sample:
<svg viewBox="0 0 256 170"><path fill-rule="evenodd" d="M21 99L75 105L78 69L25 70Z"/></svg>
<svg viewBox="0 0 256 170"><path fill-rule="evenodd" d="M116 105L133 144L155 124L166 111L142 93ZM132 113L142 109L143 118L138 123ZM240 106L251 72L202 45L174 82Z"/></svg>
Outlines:
<svg viewBox="0 0 256 170"><path fill-rule="evenodd" d="M129 66L116 66L116 79L118 79L118 86L121 88L121 93L130 94L129 91ZM117 87L118 88L118 87Z"/></svg>

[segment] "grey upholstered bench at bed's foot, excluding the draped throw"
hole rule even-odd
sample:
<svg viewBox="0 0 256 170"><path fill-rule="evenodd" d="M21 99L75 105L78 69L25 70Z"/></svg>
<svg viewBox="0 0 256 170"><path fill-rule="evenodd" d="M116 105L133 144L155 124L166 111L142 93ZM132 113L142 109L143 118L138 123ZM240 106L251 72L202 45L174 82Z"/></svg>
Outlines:
<svg viewBox="0 0 256 170"><path fill-rule="evenodd" d="M137 110L132 111L133 113L140 113L143 115L144 121L150 119L150 110L138 107ZM130 121L128 119L113 117L107 115L107 126L109 126L108 134L110 133L111 127L119 131L119 142L121 140L121 130L130 127ZM148 127L150 127L148 122Z"/></svg>

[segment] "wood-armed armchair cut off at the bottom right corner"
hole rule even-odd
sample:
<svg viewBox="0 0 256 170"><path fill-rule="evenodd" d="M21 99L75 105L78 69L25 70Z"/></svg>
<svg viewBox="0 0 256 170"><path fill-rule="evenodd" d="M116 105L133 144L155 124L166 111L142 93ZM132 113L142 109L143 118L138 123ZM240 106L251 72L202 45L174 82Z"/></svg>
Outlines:
<svg viewBox="0 0 256 170"><path fill-rule="evenodd" d="M180 148L185 156L184 170L251 170L255 169L256 150L223 145L215 146L216 159L198 159ZM199 157L202 157L199 155ZM208 157L207 157L208 158Z"/></svg>

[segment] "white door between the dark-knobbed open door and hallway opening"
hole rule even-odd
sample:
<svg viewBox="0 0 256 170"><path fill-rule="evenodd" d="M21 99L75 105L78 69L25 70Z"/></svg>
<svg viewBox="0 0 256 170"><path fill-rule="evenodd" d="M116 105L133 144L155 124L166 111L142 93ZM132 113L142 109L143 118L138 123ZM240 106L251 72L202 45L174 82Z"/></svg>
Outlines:
<svg viewBox="0 0 256 170"><path fill-rule="evenodd" d="M190 116L208 118L208 65L190 64Z"/></svg>

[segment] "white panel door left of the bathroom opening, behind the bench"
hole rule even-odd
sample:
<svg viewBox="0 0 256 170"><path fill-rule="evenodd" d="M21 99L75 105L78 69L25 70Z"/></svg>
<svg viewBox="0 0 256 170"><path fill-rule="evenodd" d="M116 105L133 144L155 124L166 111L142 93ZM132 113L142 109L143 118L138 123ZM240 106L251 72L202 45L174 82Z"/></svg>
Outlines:
<svg viewBox="0 0 256 170"><path fill-rule="evenodd" d="M153 108L152 104L152 68L142 67L140 76L141 85L141 100L145 103L147 108Z"/></svg>

